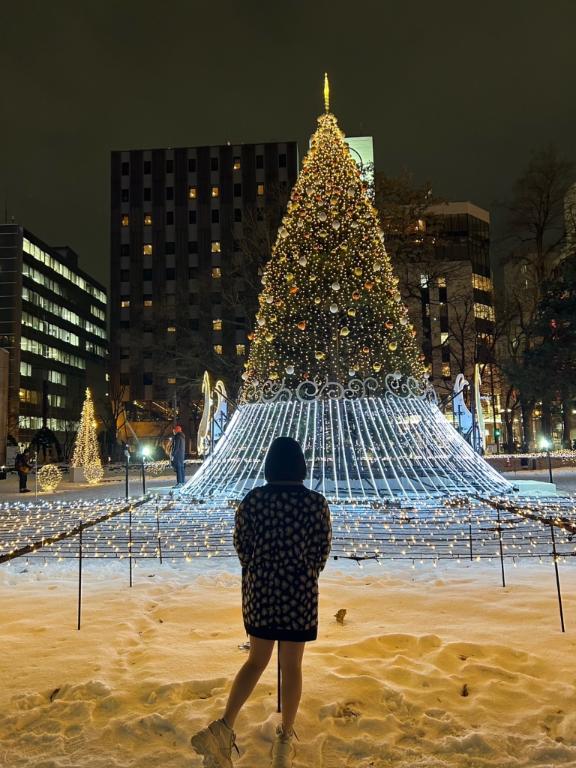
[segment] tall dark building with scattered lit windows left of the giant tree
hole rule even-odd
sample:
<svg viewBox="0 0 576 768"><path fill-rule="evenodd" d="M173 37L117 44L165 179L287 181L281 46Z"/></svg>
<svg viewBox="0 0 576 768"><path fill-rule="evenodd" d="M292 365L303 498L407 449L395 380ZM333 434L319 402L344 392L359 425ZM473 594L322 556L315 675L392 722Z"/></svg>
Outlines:
<svg viewBox="0 0 576 768"><path fill-rule="evenodd" d="M166 434L202 368L237 383L257 295L247 247L277 226L297 173L296 142L112 153L111 371L127 437Z"/></svg>

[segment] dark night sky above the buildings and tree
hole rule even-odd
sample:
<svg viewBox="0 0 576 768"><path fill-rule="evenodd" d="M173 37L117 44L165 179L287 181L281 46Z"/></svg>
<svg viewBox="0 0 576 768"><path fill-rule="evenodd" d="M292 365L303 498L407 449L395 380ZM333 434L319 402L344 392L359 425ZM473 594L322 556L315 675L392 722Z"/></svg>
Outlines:
<svg viewBox="0 0 576 768"><path fill-rule="evenodd" d="M4 0L1 220L107 281L110 150L303 147L324 70L377 169L489 207L531 149L576 159L575 30L574 0Z"/></svg>

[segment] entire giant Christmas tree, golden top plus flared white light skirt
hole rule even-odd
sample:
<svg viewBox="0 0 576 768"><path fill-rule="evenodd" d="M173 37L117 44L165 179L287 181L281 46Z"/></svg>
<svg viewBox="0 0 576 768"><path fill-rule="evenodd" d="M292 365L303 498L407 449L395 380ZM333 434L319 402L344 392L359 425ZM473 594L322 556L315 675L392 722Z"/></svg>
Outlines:
<svg viewBox="0 0 576 768"><path fill-rule="evenodd" d="M339 504L509 493L423 378L377 211L326 106L262 278L241 405L182 493L241 498L281 435Z"/></svg>

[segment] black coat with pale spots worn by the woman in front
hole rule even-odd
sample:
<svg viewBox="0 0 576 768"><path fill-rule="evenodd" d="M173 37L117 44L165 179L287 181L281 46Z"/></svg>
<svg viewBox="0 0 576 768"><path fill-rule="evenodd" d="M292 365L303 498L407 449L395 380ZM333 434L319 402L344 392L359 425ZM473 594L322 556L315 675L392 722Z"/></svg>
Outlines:
<svg viewBox="0 0 576 768"><path fill-rule="evenodd" d="M268 483L236 511L246 632L305 642L318 634L318 576L330 554L326 499L303 484Z"/></svg>

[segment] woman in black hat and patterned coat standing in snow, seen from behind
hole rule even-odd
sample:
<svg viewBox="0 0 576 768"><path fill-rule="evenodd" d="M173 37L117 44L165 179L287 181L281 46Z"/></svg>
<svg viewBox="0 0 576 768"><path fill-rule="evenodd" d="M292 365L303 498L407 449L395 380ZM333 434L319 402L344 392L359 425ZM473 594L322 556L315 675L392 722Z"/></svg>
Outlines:
<svg viewBox="0 0 576 768"><path fill-rule="evenodd" d="M234 722L268 666L275 642L282 672L282 724L276 730L272 767L290 768L294 756L302 656L305 643L318 634L318 576L330 553L330 510L321 494L304 485L304 454L292 438L272 442L264 475L266 485L251 490L238 507L234 528L250 656L236 675L222 718L192 737L206 768L232 766Z"/></svg>

